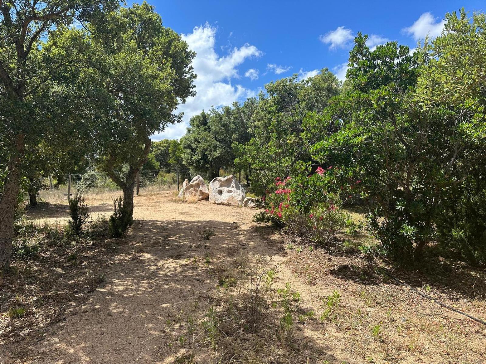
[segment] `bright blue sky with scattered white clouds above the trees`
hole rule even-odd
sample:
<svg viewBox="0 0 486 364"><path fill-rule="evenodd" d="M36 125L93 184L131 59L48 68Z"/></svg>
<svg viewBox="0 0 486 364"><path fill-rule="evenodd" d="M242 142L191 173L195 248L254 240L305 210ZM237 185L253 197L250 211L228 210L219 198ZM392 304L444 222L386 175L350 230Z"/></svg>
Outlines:
<svg viewBox="0 0 486 364"><path fill-rule="evenodd" d="M434 37L447 12L485 10L485 1L188 1L148 0L164 25L197 52L197 96L179 107L184 122L153 139L178 139L191 116L255 96L265 83L328 67L346 75L354 35L369 46L396 40L415 48Z"/></svg>

